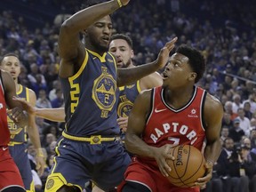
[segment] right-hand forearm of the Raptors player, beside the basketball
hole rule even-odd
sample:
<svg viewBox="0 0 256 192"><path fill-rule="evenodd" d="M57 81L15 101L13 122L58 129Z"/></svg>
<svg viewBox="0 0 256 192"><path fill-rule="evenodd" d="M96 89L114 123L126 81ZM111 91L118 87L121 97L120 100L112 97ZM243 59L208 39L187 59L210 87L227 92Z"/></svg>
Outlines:
<svg viewBox="0 0 256 192"><path fill-rule="evenodd" d="M210 144L206 144L204 149L204 158L208 163L212 165L218 160L221 152L220 140L215 140Z"/></svg>

